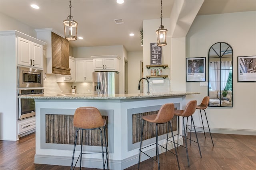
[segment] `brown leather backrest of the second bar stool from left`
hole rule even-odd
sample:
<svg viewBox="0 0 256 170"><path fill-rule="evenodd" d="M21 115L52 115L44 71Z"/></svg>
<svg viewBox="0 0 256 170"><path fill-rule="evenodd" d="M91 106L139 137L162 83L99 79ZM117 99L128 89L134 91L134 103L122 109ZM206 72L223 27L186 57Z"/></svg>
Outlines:
<svg viewBox="0 0 256 170"><path fill-rule="evenodd" d="M166 123L172 119L174 116L174 104L167 103L160 107L156 118L154 119L154 123Z"/></svg>

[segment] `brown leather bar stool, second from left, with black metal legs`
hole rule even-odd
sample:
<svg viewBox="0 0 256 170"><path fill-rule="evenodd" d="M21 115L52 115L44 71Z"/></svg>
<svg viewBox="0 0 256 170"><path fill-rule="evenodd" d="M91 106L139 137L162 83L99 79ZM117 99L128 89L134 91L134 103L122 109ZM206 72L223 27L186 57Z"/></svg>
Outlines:
<svg viewBox="0 0 256 170"><path fill-rule="evenodd" d="M156 145L157 160L152 158L152 157L150 157L150 158L152 158L154 161L158 162L158 170L160 170L159 149L158 149L158 145L159 145L158 144L158 125L163 124L163 123L168 123L168 133L169 133L169 126L170 126L170 130L171 130L171 133L172 133L172 139L173 139L173 142L174 142L174 137L173 137L173 132L172 132L172 124L170 123L170 120L172 119L173 116L174 116L174 104L173 103L168 103L168 104L164 104L163 106L161 106L157 114L146 115L146 116L142 117L142 129L141 129L141 136L140 136L140 153L142 152L146 156L150 157L148 154L146 154L145 152L142 151L142 149L144 149L146 147L141 148L142 147L144 122L148 121L148 122L151 122L151 123L156 123L156 143L154 143L152 145ZM167 138L166 139L168 139L168 133L167 133ZM150 147L152 145L149 145L147 147ZM166 143L166 148L163 147L162 145L159 145L159 146L167 150L167 143ZM179 164L179 160L178 160L178 154L177 154L175 143L174 143L174 149L175 149L176 159L177 159L177 162L178 162L178 168L180 169L180 164ZM168 150L168 151L171 152L170 150ZM171 152L171 153L173 153L173 152ZM138 162L138 169L139 168L140 168L140 154L139 154L139 162Z"/></svg>

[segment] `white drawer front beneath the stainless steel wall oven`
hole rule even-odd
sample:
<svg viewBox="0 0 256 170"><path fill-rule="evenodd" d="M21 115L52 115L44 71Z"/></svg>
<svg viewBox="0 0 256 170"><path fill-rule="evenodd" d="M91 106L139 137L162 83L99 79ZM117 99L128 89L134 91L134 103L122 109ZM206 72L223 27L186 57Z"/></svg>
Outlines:
<svg viewBox="0 0 256 170"><path fill-rule="evenodd" d="M36 129L36 117L18 121L18 135Z"/></svg>

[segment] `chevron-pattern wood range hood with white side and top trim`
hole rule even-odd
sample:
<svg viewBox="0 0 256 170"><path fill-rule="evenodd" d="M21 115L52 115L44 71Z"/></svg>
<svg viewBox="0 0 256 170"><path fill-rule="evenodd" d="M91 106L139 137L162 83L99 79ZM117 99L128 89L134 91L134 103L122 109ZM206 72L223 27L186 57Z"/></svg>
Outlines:
<svg viewBox="0 0 256 170"><path fill-rule="evenodd" d="M69 68L69 41L52 28L36 29L37 39L44 45L45 73L70 75Z"/></svg>

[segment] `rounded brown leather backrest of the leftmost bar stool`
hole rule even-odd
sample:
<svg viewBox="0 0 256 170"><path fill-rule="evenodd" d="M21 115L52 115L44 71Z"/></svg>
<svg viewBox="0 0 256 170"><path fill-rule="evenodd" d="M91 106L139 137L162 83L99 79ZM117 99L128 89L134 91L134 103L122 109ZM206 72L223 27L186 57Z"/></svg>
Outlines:
<svg viewBox="0 0 256 170"><path fill-rule="evenodd" d="M73 124L82 129L103 127L106 120L102 119L100 111L95 107L79 107L74 113Z"/></svg>

